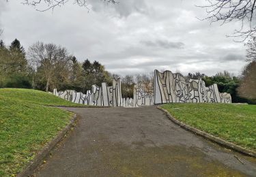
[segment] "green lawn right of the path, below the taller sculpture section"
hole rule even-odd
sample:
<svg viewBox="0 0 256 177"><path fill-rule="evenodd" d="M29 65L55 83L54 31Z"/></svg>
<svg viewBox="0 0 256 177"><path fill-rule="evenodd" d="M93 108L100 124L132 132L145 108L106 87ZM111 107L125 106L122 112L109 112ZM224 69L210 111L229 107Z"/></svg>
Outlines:
<svg viewBox="0 0 256 177"><path fill-rule="evenodd" d="M255 105L169 103L161 107L187 125L244 148L256 150Z"/></svg>

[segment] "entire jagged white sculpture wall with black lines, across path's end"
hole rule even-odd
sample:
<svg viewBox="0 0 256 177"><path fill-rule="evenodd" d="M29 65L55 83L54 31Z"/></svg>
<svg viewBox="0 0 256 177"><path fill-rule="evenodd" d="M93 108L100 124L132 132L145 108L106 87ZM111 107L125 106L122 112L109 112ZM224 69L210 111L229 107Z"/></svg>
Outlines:
<svg viewBox="0 0 256 177"><path fill-rule="evenodd" d="M153 82L134 85L133 99L122 98L121 80L113 79L113 86L102 83L91 86L86 94L76 91L53 90L53 95L74 103L92 106L141 107L160 103L231 103L229 93L219 93L217 84L205 86L202 79L186 80L182 74L154 71Z"/></svg>

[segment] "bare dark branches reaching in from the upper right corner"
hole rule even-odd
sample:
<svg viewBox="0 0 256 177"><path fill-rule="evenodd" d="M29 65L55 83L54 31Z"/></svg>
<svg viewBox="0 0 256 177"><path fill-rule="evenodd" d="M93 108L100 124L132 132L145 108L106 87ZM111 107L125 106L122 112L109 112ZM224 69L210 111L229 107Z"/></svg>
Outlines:
<svg viewBox="0 0 256 177"><path fill-rule="evenodd" d="M231 21L240 21L240 29L235 29L233 37L242 37L242 42L256 33L255 8L256 0L206 0L207 5L198 6L206 8L208 16L201 20L222 22L222 25Z"/></svg>

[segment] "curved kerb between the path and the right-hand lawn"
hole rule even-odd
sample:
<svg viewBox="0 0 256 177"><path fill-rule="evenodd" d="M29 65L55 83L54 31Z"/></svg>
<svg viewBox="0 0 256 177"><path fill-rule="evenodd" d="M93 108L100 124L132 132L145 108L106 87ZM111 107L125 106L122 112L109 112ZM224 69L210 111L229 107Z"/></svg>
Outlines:
<svg viewBox="0 0 256 177"><path fill-rule="evenodd" d="M186 125L184 123L182 123L180 120L177 120L176 118L174 118L173 116L171 116L171 114L165 110L164 108L161 108L160 106L157 106L156 108L158 108L158 110L161 110L162 112L165 112L165 114L167 114L167 117L173 121L173 123L180 125L180 127L182 127L183 129L186 129L188 131L192 131L193 133L197 134L197 135L201 135L203 138L208 139L212 142L216 142L217 144L220 144L221 146L225 146L226 148L229 148L231 150L236 150L237 152L240 152L244 155L248 155L251 157L256 157L256 152L252 151L252 150L247 150L246 148L242 148L241 146L238 146L236 144L233 144L231 142L227 142L221 138L218 138L214 135L210 135L209 133L206 133L204 131L201 131L199 129L196 129L194 127L191 127L189 125Z"/></svg>

